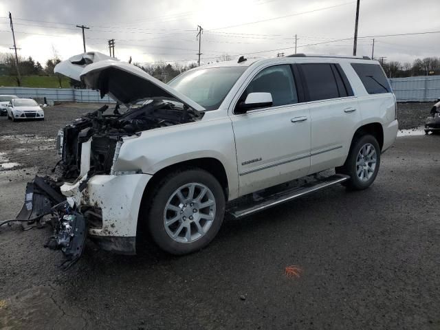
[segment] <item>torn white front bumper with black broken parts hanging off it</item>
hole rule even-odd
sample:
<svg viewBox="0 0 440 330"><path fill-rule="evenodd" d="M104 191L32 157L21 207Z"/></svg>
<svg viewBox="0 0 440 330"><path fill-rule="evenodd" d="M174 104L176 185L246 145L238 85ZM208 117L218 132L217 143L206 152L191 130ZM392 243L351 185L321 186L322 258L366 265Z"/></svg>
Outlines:
<svg viewBox="0 0 440 330"><path fill-rule="evenodd" d="M63 184L36 176L17 219L28 219L29 228L52 214L54 233L45 246L63 252L64 270L78 261L87 238L102 250L135 254L137 217L149 179L146 174L85 175Z"/></svg>

